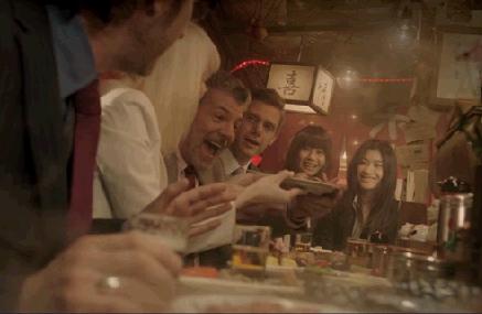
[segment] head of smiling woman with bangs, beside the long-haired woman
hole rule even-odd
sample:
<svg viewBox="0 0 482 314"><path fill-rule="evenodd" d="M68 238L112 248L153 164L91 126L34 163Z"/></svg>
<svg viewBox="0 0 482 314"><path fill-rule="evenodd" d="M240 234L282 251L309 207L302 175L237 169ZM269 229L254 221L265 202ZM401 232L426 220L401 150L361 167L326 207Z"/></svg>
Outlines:
<svg viewBox="0 0 482 314"><path fill-rule="evenodd" d="M285 167L303 178L326 181L330 152L331 139L328 132L322 127L308 126L291 140Z"/></svg>

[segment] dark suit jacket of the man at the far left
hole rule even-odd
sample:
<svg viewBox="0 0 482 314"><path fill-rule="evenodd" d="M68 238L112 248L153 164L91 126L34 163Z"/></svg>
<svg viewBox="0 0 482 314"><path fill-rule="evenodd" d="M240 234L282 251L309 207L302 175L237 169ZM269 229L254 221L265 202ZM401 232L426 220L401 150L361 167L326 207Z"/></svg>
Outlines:
<svg viewBox="0 0 482 314"><path fill-rule="evenodd" d="M0 0L0 310L65 238L69 145L52 46L44 7Z"/></svg>

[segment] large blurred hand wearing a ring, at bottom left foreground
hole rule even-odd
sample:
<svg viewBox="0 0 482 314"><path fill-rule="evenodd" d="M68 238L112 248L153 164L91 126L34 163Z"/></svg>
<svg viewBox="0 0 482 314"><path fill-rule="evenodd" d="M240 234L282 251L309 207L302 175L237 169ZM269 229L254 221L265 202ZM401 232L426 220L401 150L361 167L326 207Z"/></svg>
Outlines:
<svg viewBox="0 0 482 314"><path fill-rule="evenodd" d="M26 278L18 311L160 312L174 295L181 264L156 236L85 236ZM105 283L108 278L114 286Z"/></svg>

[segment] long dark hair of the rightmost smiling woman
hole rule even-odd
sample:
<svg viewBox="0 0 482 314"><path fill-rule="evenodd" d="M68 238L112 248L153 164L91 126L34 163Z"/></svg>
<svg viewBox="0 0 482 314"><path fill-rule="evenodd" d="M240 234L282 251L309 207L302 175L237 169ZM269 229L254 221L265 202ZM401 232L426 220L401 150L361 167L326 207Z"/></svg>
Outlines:
<svg viewBox="0 0 482 314"><path fill-rule="evenodd" d="M357 178L357 166L365 158L366 151L374 150L382 154L383 159L383 177L375 191L374 207L369 212L367 221L364 227L367 227L369 232L384 230L390 223L393 217L395 199L395 187L397 183L397 158L390 144L381 140L365 141L353 155L347 169L347 191L343 198L351 206L354 197L362 193Z"/></svg>

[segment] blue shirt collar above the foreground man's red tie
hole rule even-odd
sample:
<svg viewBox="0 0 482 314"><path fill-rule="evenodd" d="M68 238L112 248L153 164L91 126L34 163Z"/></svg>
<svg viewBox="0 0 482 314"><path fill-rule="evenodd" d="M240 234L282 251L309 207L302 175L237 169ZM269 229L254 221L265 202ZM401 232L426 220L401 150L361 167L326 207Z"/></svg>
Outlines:
<svg viewBox="0 0 482 314"><path fill-rule="evenodd" d="M58 87L63 99L97 77L94 53L79 17L68 18L53 6L46 7L53 39Z"/></svg>

